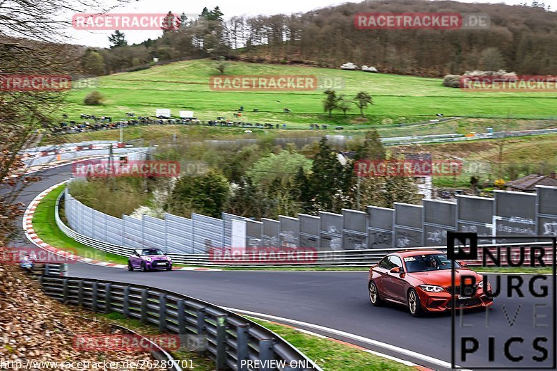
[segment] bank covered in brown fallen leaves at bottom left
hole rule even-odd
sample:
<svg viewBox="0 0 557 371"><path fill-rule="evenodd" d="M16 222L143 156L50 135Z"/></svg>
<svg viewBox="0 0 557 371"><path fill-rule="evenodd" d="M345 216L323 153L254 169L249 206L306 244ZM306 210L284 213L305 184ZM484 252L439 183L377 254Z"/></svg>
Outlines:
<svg viewBox="0 0 557 371"><path fill-rule="evenodd" d="M46 297L38 283L24 275L17 265L0 265L0 370L22 369L15 366L17 361L25 370L46 370L38 361L153 361L146 352L74 349L76 335L101 336L111 331L107 323L75 317L79 314L85 311Z"/></svg>

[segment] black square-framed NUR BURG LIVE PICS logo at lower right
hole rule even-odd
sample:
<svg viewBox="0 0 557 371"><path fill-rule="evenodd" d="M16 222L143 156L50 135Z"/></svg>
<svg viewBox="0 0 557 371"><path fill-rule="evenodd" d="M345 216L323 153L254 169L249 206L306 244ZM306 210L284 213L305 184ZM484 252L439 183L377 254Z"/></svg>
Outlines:
<svg viewBox="0 0 557 371"><path fill-rule="evenodd" d="M557 237L482 239L493 244L478 246L476 233L447 233L455 293L452 368L555 370ZM483 275L480 282L455 264L463 261ZM478 288L493 305L466 310L466 300L473 300Z"/></svg>

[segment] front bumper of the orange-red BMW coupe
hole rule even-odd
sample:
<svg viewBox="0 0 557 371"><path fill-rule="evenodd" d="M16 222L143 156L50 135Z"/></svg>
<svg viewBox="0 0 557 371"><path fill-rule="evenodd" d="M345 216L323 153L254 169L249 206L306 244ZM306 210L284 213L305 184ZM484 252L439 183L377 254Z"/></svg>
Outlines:
<svg viewBox="0 0 557 371"><path fill-rule="evenodd" d="M453 295L447 291L426 292L418 287L416 292L420 297L422 308L428 312L444 312L450 310L453 306ZM487 297L482 289L478 289L476 294L470 298L460 298L459 295L455 295L456 309L480 308L492 304L493 298Z"/></svg>

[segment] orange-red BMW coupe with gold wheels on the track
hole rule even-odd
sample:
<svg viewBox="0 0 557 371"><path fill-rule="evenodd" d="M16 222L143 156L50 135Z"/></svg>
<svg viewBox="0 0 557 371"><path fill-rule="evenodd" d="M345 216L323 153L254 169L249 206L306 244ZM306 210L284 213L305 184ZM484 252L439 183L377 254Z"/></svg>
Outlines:
<svg viewBox="0 0 557 371"><path fill-rule="evenodd" d="M369 294L374 306L384 301L400 303L418 317L427 312L444 312L452 306L460 308L487 307L493 304L492 287L483 285L483 276L464 268L465 262L455 262L455 292L451 286L451 264L445 253L436 250L400 251L386 255L370 268ZM476 292L465 296L460 291L462 276L476 278Z"/></svg>

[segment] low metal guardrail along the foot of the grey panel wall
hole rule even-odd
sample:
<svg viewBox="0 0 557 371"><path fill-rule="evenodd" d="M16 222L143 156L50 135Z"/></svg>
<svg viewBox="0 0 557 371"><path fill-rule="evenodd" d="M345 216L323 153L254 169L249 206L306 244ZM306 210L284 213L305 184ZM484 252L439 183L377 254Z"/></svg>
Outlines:
<svg viewBox="0 0 557 371"><path fill-rule="evenodd" d="M56 200L56 225L60 228L65 235L76 240L77 242L86 246L97 248L100 251L113 253L116 255L130 256L134 248L127 246L119 246L115 244L107 244L106 242L81 235L72 230L72 228L65 225L58 213L58 205L61 198L64 196L62 192ZM520 248L521 246L547 246L548 242L530 242L530 243L517 243L517 244L491 244L485 245L496 248L497 246L512 246L512 249ZM481 245L480 245L481 246ZM424 247L406 248L406 250L420 250ZM434 249L446 252L446 246L429 246L428 249ZM217 266L217 267L370 267L377 264L381 258L386 254L400 251L401 248L377 248L368 250L343 250L343 251L317 251L316 258L308 260L305 256L299 260L301 262L292 264L265 264L260 262L242 262L235 264L223 264L223 262L215 262L209 254L180 254L168 253L171 256L173 263L180 265L194 265L194 266ZM505 251L505 250L503 250ZM294 253L297 255L297 253ZM306 254L306 252L299 253ZM470 265L480 265L479 261L469 262Z"/></svg>

